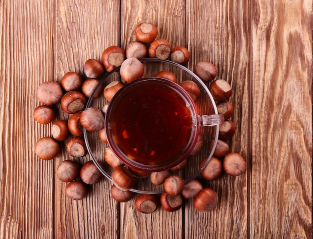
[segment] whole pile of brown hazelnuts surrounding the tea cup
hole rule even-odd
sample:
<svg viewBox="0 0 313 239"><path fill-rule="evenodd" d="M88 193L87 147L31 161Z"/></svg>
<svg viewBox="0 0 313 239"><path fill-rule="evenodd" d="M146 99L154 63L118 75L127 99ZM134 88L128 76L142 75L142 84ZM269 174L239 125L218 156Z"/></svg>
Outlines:
<svg viewBox="0 0 313 239"><path fill-rule="evenodd" d="M172 48L164 39L156 39L157 29L153 24L141 23L134 30L137 41L131 42L125 50L111 46L102 53L102 63L89 59L83 66L86 79L75 72L67 72L60 82L48 81L42 83L37 89L37 98L41 103L33 111L33 118L40 124L51 125L51 136L39 139L35 144L35 154L43 160L51 160L60 152L61 141L66 141L68 154L73 157L83 157L87 154L83 139L83 128L86 131L98 132L99 139L107 143L104 131L104 115L107 103L101 109L94 107L85 108L87 98L104 96L109 102L113 95L125 84L144 75L143 64L139 59L150 57L168 59L177 64L185 65L189 61L189 52L182 46ZM98 79L105 72L111 72L120 67L121 81L112 81L103 86ZM227 140L235 133L235 125L230 120L233 106L228 101L232 94L230 85L222 80L214 80L216 68L207 61L202 61L194 66L194 73L204 82L210 83L209 90L213 96L217 111L224 116L224 123L219 126L219 139L213 152L213 157L200 172L206 180L214 180L225 173L238 176L245 172L244 158L235 152L229 152ZM161 71L155 76L177 82L175 75L168 71ZM191 98L196 101L200 89L192 81L183 81L180 86L186 90ZM67 120L58 119L54 122L53 105L60 103L61 109L68 114ZM57 107L56 107L57 108ZM51 124L50 124L51 123ZM68 139L69 138L69 139ZM214 140L209 143L211 151ZM196 145L190 155L196 155L203 147L203 137L198 136ZM160 204L166 211L178 210L183 203L183 198L193 198L194 207L201 212L208 212L217 204L217 193L211 188L203 188L198 179L192 179L184 185L179 175L171 175L170 171L179 171L187 164L187 159L170 170L160 172L144 172L126 167L106 145L104 150L105 162L113 168L111 179L111 196L117 202L126 202L134 197L135 193L129 189L136 184L137 177L149 177L155 185L163 184L164 193L139 194L135 198L135 208L142 213L153 212ZM202 168L207 161L204 158L199 165ZM92 160L81 167L74 160L62 161L56 170L56 176L68 183L65 194L71 199L80 200L87 195L86 184L95 184L102 178Z"/></svg>

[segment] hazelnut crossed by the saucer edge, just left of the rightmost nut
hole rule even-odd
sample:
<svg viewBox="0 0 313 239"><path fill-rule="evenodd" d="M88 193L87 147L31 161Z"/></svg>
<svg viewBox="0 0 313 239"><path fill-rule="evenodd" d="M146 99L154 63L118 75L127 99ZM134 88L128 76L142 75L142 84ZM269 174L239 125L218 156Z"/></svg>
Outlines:
<svg viewBox="0 0 313 239"><path fill-rule="evenodd" d="M202 168L206 162L207 158L204 158L199 165L199 168ZM204 169L200 172L202 178L206 180L214 180L220 177L222 173L222 163L218 158L211 157L208 164L204 167Z"/></svg>

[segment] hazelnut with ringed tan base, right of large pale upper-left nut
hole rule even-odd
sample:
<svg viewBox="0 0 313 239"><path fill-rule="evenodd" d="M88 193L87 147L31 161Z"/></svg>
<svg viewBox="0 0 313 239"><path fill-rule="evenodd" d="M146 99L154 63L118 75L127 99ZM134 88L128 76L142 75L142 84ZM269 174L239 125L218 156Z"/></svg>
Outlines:
<svg viewBox="0 0 313 239"><path fill-rule="evenodd" d="M67 114L81 111L85 104L85 97L78 91L69 91L61 98L61 108Z"/></svg>

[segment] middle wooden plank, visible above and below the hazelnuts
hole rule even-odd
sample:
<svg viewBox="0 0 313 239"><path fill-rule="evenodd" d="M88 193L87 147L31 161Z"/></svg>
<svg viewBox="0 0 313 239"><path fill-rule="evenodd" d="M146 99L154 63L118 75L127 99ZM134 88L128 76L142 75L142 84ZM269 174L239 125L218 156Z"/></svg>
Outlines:
<svg viewBox="0 0 313 239"><path fill-rule="evenodd" d="M122 1L121 46L136 40L135 27L142 22L154 24L157 38L172 47L185 46L185 1ZM135 210L134 199L120 205L120 238L182 238L182 209L166 212L159 207L152 214Z"/></svg>

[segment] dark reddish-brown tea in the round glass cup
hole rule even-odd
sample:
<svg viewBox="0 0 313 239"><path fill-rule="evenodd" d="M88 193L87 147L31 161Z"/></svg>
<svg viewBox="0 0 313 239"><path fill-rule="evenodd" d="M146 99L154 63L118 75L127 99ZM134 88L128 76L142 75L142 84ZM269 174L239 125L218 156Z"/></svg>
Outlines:
<svg viewBox="0 0 313 239"><path fill-rule="evenodd" d="M112 150L134 164L174 164L190 151L195 137L188 96L177 84L160 79L128 84L114 96L105 118Z"/></svg>

